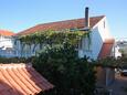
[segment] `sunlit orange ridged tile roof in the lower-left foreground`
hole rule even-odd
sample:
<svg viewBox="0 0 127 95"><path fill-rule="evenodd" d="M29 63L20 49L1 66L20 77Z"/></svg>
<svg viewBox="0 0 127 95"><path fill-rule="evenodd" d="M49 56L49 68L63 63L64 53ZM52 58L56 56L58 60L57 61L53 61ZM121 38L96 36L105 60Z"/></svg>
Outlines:
<svg viewBox="0 0 127 95"><path fill-rule="evenodd" d="M31 65L0 64L0 95L35 95L52 87Z"/></svg>

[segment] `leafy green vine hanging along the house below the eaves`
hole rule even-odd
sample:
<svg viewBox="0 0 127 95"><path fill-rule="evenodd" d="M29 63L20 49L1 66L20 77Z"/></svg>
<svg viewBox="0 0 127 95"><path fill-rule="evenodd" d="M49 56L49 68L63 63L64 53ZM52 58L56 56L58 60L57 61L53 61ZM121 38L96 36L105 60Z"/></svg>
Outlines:
<svg viewBox="0 0 127 95"><path fill-rule="evenodd" d="M36 31L35 33L20 36L19 40L25 44L47 44L52 45L63 45L65 43L77 46L82 38L89 38L89 31L80 31L80 30L62 30L62 31Z"/></svg>

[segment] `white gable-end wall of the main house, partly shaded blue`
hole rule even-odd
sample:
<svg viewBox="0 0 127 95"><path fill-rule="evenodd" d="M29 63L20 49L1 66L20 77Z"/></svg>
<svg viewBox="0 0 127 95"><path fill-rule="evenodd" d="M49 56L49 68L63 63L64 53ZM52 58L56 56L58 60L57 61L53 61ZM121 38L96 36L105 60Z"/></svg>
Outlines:
<svg viewBox="0 0 127 95"><path fill-rule="evenodd" d="M92 29L89 50L80 49L78 55L83 57L84 55L96 60L102 50L103 43L107 39L113 39L109 34L108 23L106 17L104 17ZM83 44L86 43L83 41ZM85 45L85 44L84 44Z"/></svg>

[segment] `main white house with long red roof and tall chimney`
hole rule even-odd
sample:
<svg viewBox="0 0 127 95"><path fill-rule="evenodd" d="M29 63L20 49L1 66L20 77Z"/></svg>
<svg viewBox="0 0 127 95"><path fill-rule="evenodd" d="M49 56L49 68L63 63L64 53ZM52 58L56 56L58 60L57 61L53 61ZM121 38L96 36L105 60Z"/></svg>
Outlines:
<svg viewBox="0 0 127 95"><path fill-rule="evenodd" d="M91 17L88 18L88 8L85 10L85 18L57 21L38 24L33 28L27 29L22 32L15 34L15 36L27 35L34 33L36 31L46 31L46 30L64 30L64 29L80 29L81 31L91 29L91 45L88 45L87 39L82 40L82 45L78 49L78 56L83 57L84 55L89 56L91 59L103 59L106 56L113 55L113 45L114 38L109 33L108 22L105 15ZM83 31L84 32L84 31ZM18 41L15 49L18 56L31 56L34 55L35 51L29 49L27 45L21 51L22 44ZM39 48L36 46L36 51ZM21 55L23 52L23 55Z"/></svg>

